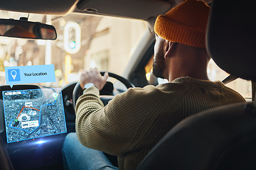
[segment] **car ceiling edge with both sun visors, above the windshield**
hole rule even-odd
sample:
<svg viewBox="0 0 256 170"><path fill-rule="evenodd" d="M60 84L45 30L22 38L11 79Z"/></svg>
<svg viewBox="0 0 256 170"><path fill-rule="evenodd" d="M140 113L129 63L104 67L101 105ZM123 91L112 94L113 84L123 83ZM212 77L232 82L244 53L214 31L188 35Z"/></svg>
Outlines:
<svg viewBox="0 0 256 170"><path fill-rule="evenodd" d="M183 0L4 0L0 10L65 16L87 13L147 20L166 13ZM209 1L209 0L207 0Z"/></svg>

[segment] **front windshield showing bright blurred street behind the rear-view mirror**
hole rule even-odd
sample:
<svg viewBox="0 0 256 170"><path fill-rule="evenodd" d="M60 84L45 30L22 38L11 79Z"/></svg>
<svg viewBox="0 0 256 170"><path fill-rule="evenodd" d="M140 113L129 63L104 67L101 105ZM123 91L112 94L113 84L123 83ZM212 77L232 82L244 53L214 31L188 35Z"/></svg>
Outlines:
<svg viewBox="0 0 256 170"><path fill-rule="evenodd" d="M28 16L28 13L0 11L2 18ZM142 38L144 21L107 16L70 14L45 16L30 14L28 21L55 26L57 40L26 40L0 37L0 84L5 84L4 67L54 64L56 81L43 86L63 87L78 81L85 69L124 72L129 57Z"/></svg>

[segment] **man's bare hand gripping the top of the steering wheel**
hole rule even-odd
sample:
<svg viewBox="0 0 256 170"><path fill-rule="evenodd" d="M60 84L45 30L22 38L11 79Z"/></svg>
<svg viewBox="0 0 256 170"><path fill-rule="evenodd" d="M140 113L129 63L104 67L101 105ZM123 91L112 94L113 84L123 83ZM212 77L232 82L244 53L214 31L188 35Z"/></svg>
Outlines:
<svg viewBox="0 0 256 170"><path fill-rule="evenodd" d="M97 89L101 90L107 82L108 72L105 72L104 76L100 74L98 69L89 69L80 76L80 86L84 89L85 84L92 83Z"/></svg>

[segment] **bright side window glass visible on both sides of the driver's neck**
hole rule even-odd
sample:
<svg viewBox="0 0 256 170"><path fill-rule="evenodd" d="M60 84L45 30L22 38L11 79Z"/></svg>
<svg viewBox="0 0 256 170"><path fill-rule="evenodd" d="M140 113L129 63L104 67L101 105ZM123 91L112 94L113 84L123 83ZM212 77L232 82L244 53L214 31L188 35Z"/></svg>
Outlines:
<svg viewBox="0 0 256 170"><path fill-rule="evenodd" d="M154 56L153 56L154 57ZM153 64L153 57L149 60L148 64L146 64L145 72L146 72L146 79L149 84L157 85L157 84L165 84L167 83L167 79L161 79L154 77L152 74L152 64ZM211 81L223 81L226 77L228 77L228 73L224 72L223 69L220 69L217 64L213 60L210 60L208 64L208 78ZM226 86L238 91L244 98L252 98L252 83L251 81L247 81L244 79L236 79L232 81Z"/></svg>

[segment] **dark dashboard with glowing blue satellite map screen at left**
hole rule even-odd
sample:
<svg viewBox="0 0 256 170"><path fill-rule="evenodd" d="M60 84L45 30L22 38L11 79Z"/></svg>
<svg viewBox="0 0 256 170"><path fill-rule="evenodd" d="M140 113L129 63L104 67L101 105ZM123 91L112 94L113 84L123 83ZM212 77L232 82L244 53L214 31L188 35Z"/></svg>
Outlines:
<svg viewBox="0 0 256 170"><path fill-rule="evenodd" d="M63 168L63 141L68 132L75 132L72 92L73 84L62 91L0 86L0 136L14 169Z"/></svg>

